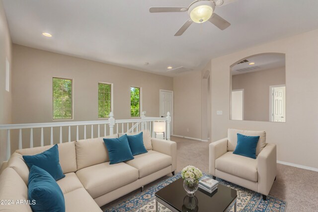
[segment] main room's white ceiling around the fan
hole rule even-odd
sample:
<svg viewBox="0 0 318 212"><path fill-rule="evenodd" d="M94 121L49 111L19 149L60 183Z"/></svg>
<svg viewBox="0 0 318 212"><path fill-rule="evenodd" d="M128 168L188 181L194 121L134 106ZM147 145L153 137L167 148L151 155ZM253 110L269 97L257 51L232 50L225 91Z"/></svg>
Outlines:
<svg viewBox="0 0 318 212"><path fill-rule="evenodd" d="M167 66L201 70L211 58L318 28L318 0L237 0L215 10L232 24L226 30L207 21L180 37L187 12L149 12L191 2L3 0L13 43L170 76Z"/></svg>

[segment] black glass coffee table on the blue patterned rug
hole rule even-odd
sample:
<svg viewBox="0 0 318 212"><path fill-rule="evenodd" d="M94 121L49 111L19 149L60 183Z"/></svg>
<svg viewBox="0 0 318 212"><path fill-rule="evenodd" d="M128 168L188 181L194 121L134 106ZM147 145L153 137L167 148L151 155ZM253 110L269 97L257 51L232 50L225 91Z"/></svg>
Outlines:
<svg viewBox="0 0 318 212"><path fill-rule="evenodd" d="M183 188L183 179L179 178L156 192L156 212L158 203L172 212L224 212L234 203L237 211L237 190L219 183L218 189L209 194L200 188L194 197L188 197Z"/></svg>

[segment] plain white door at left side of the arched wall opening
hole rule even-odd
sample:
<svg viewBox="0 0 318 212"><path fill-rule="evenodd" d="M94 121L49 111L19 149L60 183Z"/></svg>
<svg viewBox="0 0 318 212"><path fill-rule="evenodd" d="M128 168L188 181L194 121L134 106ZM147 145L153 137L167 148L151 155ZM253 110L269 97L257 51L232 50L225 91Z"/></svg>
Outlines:
<svg viewBox="0 0 318 212"><path fill-rule="evenodd" d="M243 120L244 118L244 89L232 90L231 119Z"/></svg>

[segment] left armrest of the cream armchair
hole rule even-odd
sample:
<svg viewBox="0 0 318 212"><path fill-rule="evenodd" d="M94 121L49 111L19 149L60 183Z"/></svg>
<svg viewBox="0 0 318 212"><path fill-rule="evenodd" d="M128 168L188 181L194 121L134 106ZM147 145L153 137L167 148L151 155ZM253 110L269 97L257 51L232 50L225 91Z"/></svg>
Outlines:
<svg viewBox="0 0 318 212"><path fill-rule="evenodd" d="M215 160L227 153L228 138L221 139L209 144L209 172L215 176Z"/></svg>

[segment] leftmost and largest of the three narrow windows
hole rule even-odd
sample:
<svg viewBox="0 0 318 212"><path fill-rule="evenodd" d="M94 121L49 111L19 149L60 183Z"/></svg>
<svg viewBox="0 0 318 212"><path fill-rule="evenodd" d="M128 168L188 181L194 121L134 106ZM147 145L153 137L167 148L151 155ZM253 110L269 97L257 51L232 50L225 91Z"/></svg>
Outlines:
<svg viewBox="0 0 318 212"><path fill-rule="evenodd" d="M53 119L72 119L72 79L53 77Z"/></svg>

